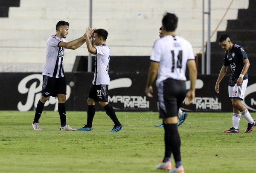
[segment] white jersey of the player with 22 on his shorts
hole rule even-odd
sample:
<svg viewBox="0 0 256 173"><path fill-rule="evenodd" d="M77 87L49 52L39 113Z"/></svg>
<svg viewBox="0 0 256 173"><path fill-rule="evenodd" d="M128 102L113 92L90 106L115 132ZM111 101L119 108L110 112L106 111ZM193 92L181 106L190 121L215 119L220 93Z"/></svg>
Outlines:
<svg viewBox="0 0 256 173"><path fill-rule="evenodd" d="M110 60L110 49L108 45L103 44L95 47L97 50L95 57L95 71L92 84L109 85L108 65Z"/></svg>

